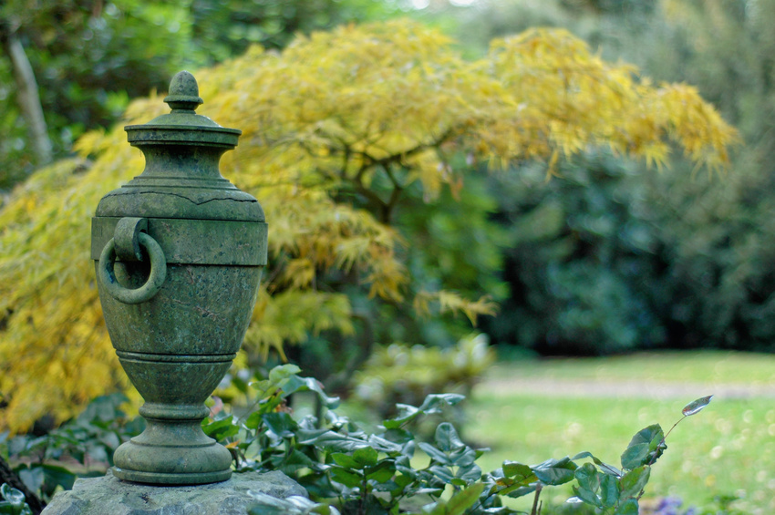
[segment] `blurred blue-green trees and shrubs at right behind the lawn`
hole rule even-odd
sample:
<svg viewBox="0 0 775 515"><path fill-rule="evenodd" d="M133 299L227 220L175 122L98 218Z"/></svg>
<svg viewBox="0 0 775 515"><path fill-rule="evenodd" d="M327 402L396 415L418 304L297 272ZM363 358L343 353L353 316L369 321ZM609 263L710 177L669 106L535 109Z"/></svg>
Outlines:
<svg viewBox="0 0 775 515"><path fill-rule="evenodd" d="M503 174L495 217L513 233L493 341L542 354L636 348L775 349L772 263L775 19L772 0L483 1L436 5L470 52L527 26L563 26L607 59L696 86L744 144L715 178L590 152L544 184Z"/></svg>

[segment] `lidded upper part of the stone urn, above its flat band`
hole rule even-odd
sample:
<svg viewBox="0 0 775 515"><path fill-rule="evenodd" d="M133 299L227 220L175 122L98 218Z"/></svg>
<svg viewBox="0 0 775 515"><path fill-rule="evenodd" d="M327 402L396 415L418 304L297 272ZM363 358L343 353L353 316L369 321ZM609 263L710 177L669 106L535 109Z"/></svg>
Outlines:
<svg viewBox="0 0 775 515"><path fill-rule="evenodd" d="M258 201L224 179L218 168L242 131L196 114L203 102L187 71L172 77L164 101L170 113L124 128L129 143L145 155L145 170L103 197L96 216L264 221Z"/></svg>

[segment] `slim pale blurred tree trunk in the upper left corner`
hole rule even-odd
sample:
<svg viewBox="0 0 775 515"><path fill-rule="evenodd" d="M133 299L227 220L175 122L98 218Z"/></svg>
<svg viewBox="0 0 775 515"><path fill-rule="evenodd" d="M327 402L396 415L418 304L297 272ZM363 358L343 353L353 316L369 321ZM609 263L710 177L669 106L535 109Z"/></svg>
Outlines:
<svg viewBox="0 0 775 515"><path fill-rule="evenodd" d="M52 147L48 139L46 118L40 105L40 95L37 91L35 73L26 57L25 48L15 35L15 30L5 26L2 35L5 54L11 61L16 82L16 96L22 117L25 118L29 139L36 154L36 165L42 166L51 162Z"/></svg>

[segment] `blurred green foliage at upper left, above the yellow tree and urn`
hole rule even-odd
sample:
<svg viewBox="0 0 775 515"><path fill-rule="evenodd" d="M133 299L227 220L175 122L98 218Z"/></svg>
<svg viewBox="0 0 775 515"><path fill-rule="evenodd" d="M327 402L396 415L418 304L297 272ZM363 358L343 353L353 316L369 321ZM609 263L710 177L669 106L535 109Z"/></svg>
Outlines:
<svg viewBox="0 0 775 515"><path fill-rule="evenodd" d="M108 127L129 99L167 88L183 67L242 54L247 46L286 46L297 32L387 16L376 0L249 3L223 0L83 2L11 0L0 6L0 39L19 37L36 76L57 156L85 131ZM34 169L16 106L13 70L0 59L0 189Z"/></svg>

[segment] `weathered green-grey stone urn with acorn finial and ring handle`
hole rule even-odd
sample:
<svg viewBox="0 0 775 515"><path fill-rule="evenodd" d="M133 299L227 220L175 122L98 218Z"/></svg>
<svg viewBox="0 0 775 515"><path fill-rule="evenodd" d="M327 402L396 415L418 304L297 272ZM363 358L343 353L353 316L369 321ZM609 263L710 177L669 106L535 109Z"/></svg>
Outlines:
<svg viewBox="0 0 775 515"><path fill-rule="evenodd" d="M105 324L145 404L147 427L114 454L119 479L195 485L229 479L231 454L202 432L204 401L242 344L266 264L267 226L219 160L241 131L196 114L188 72L171 113L126 127L142 173L99 201L91 256Z"/></svg>

